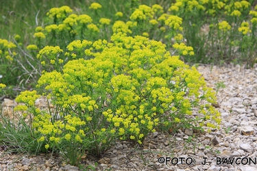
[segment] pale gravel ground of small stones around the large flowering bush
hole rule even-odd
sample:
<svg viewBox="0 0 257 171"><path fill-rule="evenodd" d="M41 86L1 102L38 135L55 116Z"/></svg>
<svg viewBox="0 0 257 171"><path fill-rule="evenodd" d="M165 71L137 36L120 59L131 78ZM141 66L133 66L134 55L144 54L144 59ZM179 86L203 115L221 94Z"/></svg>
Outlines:
<svg viewBox="0 0 257 171"><path fill-rule="evenodd" d="M143 146L117 142L101 159L84 156L82 164L96 170L257 170L257 66L199 65L208 83L222 82L217 93L221 129L187 141L191 130L151 133ZM8 155L0 148L0 170L79 170L57 154ZM184 159L182 159L184 157ZM98 163L95 166L95 163ZM173 164L174 163L174 164ZM191 164L190 164L191 163Z"/></svg>

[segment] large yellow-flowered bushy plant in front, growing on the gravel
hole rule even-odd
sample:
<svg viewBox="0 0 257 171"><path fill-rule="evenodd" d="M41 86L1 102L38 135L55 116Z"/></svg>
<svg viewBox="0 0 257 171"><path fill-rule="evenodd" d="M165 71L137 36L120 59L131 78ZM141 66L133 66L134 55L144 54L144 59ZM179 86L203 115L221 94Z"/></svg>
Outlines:
<svg viewBox="0 0 257 171"><path fill-rule="evenodd" d="M74 156L84 150L100 155L117 138L142 144L156 129L218 127L220 114L208 105L215 103L215 92L196 68L172 56L161 42L121 32L110 39L71 42L67 49L79 58L42 73L37 87L45 89L43 94L27 91L16 98L32 115L41 148L60 150L76 164ZM174 48L193 52L184 44ZM38 57L54 59L60 51L45 47ZM56 111L37 109L39 95L51 99ZM199 116L192 116L193 107L199 107Z"/></svg>

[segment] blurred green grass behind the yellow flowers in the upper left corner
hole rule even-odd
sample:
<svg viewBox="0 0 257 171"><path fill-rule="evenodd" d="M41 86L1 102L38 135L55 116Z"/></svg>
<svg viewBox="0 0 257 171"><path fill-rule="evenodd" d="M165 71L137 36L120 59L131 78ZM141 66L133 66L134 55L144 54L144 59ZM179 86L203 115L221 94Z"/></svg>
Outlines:
<svg viewBox="0 0 257 171"><path fill-rule="evenodd" d="M80 1L0 1L1 20L0 37L11 40L11 36L19 34L26 44L31 39L32 31L42 25L42 18L47 11L61 5L80 6Z"/></svg>

